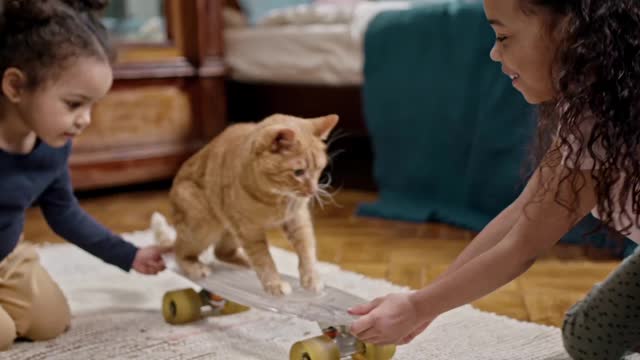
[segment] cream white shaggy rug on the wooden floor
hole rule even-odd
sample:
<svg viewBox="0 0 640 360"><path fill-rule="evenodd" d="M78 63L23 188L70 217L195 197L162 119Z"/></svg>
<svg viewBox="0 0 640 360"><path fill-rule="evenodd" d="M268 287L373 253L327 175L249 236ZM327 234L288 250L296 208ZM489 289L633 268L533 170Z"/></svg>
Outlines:
<svg viewBox="0 0 640 360"><path fill-rule="evenodd" d="M148 244L151 232L125 235ZM279 269L296 275L294 254L274 248ZM43 264L68 297L72 327L48 342L17 343L2 359L287 359L298 340L319 335L316 324L252 309L172 326L160 313L165 291L190 284L171 272L126 274L71 245L40 249ZM373 298L406 291L322 263L326 283ZM557 328L518 322L465 306L439 317L394 359L568 360Z"/></svg>

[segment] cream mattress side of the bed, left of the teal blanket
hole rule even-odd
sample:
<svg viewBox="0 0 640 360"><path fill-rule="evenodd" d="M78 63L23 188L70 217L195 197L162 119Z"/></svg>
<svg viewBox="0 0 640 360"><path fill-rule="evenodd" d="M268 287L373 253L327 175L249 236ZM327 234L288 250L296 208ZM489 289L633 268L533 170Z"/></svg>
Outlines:
<svg viewBox="0 0 640 360"><path fill-rule="evenodd" d="M237 81L351 86L362 54L345 24L231 29L226 62Z"/></svg>

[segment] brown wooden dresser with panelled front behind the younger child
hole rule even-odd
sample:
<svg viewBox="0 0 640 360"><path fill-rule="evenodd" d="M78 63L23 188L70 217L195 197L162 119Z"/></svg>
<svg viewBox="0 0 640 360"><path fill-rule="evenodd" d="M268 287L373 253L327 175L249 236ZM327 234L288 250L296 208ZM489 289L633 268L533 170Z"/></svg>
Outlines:
<svg viewBox="0 0 640 360"><path fill-rule="evenodd" d="M76 190L171 178L226 125L223 0L112 0L105 19L153 1L159 16L138 21L138 38L118 40L113 88L74 142ZM107 23L110 31L136 24Z"/></svg>

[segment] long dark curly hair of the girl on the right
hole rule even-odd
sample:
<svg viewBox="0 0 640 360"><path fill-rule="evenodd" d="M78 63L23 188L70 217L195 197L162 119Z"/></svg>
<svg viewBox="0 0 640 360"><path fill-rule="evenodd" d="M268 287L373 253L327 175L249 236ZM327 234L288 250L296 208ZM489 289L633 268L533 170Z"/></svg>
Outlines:
<svg viewBox="0 0 640 360"><path fill-rule="evenodd" d="M577 193L584 186L579 169L593 159L602 223L613 228L615 210L627 224L618 229L625 234L640 215L640 1L520 3L525 12L551 14L550 30L561 33L550 69L555 97L539 108L538 163L571 159L560 182L568 181ZM556 200L577 207L576 201Z"/></svg>

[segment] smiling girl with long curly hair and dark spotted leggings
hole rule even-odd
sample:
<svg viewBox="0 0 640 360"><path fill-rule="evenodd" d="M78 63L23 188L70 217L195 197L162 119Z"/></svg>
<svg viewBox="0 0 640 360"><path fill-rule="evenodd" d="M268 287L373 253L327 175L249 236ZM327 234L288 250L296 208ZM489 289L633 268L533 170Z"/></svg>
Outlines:
<svg viewBox="0 0 640 360"><path fill-rule="evenodd" d="M540 108L536 170L520 196L427 287L351 309L352 332L403 344L439 314L525 272L592 212L640 242L640 1L484 0L491 58ZM640 344L640 251L566 314L574 359Z"/></svg>

